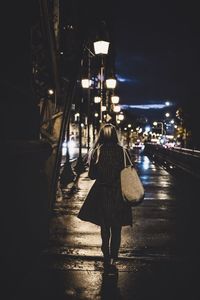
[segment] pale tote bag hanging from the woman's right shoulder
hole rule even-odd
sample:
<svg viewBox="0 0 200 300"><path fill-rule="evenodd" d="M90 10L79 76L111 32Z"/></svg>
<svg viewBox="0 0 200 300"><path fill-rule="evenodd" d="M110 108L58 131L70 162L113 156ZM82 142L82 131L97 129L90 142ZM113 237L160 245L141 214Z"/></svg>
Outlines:
<svg viewBox="0 0 200 300"><path fill-rule="evenodd" d="M121 190L124 201L131 206L138 205L144 199L144 187L126 150L124 152L124 169L121 171ZM127 166L127 159L130 164Z"/></svg>

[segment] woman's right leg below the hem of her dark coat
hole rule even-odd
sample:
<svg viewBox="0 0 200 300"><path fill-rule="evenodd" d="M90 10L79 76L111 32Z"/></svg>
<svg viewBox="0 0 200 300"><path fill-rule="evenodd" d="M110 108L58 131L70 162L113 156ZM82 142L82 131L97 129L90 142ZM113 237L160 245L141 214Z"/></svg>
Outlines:
<svg viewBox="0 0 200 300"><path fill-rule="evenodd" d="M118 252L121 244L121 229L122 227L120 225L111 226L110 254L113 259L118 258Z"/></svg>

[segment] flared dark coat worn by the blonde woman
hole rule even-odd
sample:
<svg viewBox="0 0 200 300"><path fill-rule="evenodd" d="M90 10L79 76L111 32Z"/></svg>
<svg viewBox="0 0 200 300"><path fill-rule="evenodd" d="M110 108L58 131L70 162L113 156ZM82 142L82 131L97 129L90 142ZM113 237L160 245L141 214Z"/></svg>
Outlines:
<svg viewBox="0 0 200 300"><path fill-rule="evenodd" d="M88 176L96 181L79 211L78 218L99 226L104 222L132 226L131 207L124 202L121 193L120 172L123 168L124 154L120 145L106 143L100 147L99 152L93 151Z"/></svg>

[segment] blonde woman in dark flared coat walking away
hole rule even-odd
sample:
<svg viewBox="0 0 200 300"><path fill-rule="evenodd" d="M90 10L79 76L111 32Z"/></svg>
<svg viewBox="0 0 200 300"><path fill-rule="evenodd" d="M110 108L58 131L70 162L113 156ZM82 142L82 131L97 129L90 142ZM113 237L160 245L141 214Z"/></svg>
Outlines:
<svg viewBox="0 0 200 300"><path fill-rule="evenodd" d="M115 266L122 226L132 226L131 207L122 198L120 172L124 152L115 127L104 125L89 158L88 176L96 179L78 217L101 227L104 267Z"/></svg>

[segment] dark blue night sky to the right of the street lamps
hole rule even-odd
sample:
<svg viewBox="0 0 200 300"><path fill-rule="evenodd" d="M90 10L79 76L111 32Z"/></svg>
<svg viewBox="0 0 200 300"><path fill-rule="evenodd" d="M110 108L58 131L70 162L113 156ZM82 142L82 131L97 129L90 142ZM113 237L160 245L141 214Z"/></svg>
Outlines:
<svg viewBox="0 0 200 300"><path fill-rule="evenodd" d="M197 128L200 101L197 2L101 1L98 7L91 4L85 7L85 3L89 2L82 6L83 23L95 24L105 19L111 33L121 104L160 104L169 100L174 109L183 107L189 123L193 129ZM155 111L151 113L155 115ZM149 116L150 111L142 114ZM163 111L157 112L159 118L161 114L164 115Z"/></svg>

